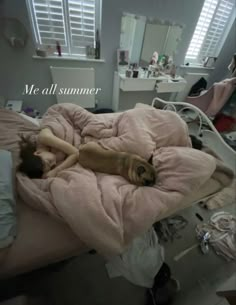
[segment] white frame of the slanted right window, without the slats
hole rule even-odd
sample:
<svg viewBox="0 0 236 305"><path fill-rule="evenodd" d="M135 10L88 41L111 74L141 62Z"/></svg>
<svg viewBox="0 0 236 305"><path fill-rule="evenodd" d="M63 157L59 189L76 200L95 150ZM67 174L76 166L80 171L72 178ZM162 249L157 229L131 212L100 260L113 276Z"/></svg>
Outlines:
<svg viewBox="0 0 236 305"><path fill-rule="evenodd" d="M222 0L216 0L216 1L217 1L216 8L215 8L214 13L212 14L212 17L211 17L211 20L210 20L208 26L207 26L207 31L206 31L206 34L205 34L205 36L204 36L204 39L203 39L203 41L202 41L202 43L201 43L201 48L199 49L197 56L194 56L194 55L191 54L190 48L193 47L194 45L196 45L196 39L195 39L195 41L194 41L194 36L196 37L197 27L198 27L199 23L201 22L200 19L203 17L203 8L204 8L204 4L206 3L206 0L205 0L205 2L204 2L204 4L203 4L203 7L202 7L202 10L201 10L201 13L200 13L200 16L199 16L199 19L198 19L198 23L197 23L197 25L196 25L195 31L194 31L194 33L193 33L192 39L191 39L191 41L190 41L190 44L189 44L189 46L188 46L188 50L187 50L186 55L185 55L185 62L189 62L189 63L192 63L192 64L202 64L202 63L203 63L204 58L202 58L202 56L203 56L203 55L202 55L202 50L203 50L203 48L204 48L204 44L205 44L205 41L206 41L206 39L207 39L207 34L212 30L211 25L212 25L212 22L213 22L213 20L214 20L214 17L215 17L215 14L216 14L216 12L217 12L217 9L218 9L220 3L222 2ZM227 1L227 0L226 0L226 1ZM226 26L225 26L225 28L224 28L224 31L223 31L223 33L222 33L222 37L221 37L221 39L217 42L217 45L216 45L216 47L215 47L214 52L211 53L211 54L206 54L205 57L207 57L207 56L218 57L218 56L219 56L219 53L220 53L220 51L221 51L221 49L222 49L222 47L223 47L223 45L224 45L224 43L225 43L225 40L226 40L226 38L227 38L227 36L228 36L228 34L229 34L229 32L230 32L232 26L233 26L233 23L234 23L234 21L235 21L235 14L236 14L236 12L235 12L235 7L234 7L234 8L232 9L231 15L229 16L229 19L228 19L228 21L227 21L227 24L226 24ZM220 23L219 23L219 25L220 25ZM189 52L189 51L190 51L190 52ZM193 52L192 52L192 53L193 53Z"/></svg>

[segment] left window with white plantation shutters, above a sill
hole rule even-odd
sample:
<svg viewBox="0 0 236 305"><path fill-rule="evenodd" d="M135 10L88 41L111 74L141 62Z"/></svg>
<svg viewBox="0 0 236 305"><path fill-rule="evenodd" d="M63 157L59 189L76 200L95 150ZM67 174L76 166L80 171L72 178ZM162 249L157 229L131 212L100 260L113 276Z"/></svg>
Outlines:
<svg viewBox="0 0 236 305"><path fill-rule="evenodd" d="M100 0L27 0L37 47L55 46L63 54L86 57L100 33Z"/></svg>

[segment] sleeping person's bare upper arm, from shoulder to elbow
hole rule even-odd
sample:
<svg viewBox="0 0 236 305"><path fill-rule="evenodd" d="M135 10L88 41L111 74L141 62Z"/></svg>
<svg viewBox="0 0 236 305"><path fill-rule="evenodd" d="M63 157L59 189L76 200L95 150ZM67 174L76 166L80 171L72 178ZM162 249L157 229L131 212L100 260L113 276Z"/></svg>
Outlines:
<svg viewBox="0 0 236 305"><path fill-rule="evenodd" d="M70 143L56 137L49 128L44 128L38 136L38 144L56 148L67 155L78 153L78 149Z"/></svg>

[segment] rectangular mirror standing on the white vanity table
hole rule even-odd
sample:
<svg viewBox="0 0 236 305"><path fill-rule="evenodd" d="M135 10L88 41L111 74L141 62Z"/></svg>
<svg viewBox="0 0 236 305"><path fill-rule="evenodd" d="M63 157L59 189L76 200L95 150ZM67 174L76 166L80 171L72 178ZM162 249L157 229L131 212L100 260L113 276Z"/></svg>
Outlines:
<svg viewBox="0 0 236 305"><path fill-rule="evenodd" d="M124 13L120 48L129 50L130 63L148 66L155 51L174 57L182 31L180 24Z"/></svg>

